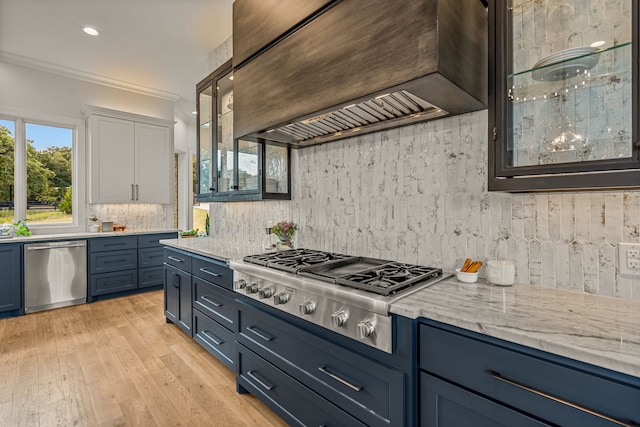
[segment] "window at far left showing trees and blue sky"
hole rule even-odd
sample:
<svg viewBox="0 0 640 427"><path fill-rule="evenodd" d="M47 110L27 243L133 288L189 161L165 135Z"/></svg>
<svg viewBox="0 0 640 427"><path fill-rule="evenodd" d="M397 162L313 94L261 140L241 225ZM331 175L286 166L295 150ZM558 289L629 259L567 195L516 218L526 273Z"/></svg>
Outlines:
<svg viewBox="0 0 640 427"><path fill-rule="evenodd" d="M77 125L0 117L0 222L77 224Z"/></svg>

